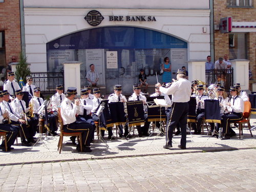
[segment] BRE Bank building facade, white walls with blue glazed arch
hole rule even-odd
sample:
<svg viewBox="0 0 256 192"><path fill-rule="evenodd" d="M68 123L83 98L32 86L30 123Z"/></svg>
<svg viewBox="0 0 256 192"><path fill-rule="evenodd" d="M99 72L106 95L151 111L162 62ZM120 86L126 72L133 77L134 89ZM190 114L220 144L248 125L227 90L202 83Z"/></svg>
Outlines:
<svg viewBox="0 0 256 192"><path fill-rule="evenodd" d="M185 66L189 80L205 79L197 61L212 49L208 1L26 0L24 20L31 72L60 72L63 62L77 61L83 87L94 64L106 94L114 84L131 93L140 69L148 83L156 83L156 74L161 81L161 65L169 57L173 77Z"/></svg>

